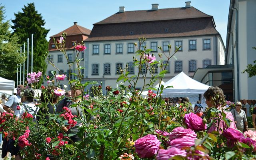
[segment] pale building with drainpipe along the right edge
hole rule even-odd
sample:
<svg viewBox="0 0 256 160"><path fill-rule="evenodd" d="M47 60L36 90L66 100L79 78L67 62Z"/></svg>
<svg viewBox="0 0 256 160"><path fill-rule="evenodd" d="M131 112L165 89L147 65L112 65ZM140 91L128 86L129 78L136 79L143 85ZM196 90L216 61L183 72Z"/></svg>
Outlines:
<svg viewBox="0 0 256 160"><path fill-rule="evenodd" d="M242 73L256 60L256 1L230 0L226 64L234 64L235 100L256 99L256 76Z"/></svg>

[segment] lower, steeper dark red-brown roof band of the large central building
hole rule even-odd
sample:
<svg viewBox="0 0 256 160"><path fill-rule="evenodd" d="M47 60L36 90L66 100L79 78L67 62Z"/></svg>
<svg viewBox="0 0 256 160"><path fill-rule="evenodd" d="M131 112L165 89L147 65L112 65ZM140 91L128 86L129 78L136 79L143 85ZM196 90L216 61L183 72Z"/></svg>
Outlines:
<svg viewBox="0 0 256 160"><path fill-rule="evenodd" d="M167 30L166 30L167 29ZM132 34L130 32L133 32ZM219 34L211 17L155 22L94 25L85 41L170 38Z"/></svg>

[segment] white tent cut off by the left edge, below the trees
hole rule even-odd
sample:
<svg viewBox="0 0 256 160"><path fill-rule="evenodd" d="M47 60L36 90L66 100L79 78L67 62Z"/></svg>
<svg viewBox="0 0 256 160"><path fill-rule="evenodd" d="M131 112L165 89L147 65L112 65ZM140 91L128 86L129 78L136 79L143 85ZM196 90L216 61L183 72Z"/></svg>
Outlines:
<svg viewBox="0 0 256 160"><path fill-rule="evenodd" d="M14 80L8 80L0 77L0 93L12 95L15 87Z"/></svg>

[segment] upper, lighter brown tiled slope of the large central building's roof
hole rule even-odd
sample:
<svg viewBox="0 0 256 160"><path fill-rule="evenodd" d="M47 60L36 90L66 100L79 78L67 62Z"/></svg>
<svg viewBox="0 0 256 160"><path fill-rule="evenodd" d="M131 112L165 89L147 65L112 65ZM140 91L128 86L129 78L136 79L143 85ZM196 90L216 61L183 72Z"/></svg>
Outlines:
<svg viewBox="0 0 256 160"><path fill-rule="evenodd" d="M123 13L117 12L112 16L95 23L96 24L112 24L112 23L129 23L129 22L147 22L156 20L180 20L188 18L212 17L208 14L197 10L194 7L190 8L165 8L159 10L136 10L126 11Z"/></svg>

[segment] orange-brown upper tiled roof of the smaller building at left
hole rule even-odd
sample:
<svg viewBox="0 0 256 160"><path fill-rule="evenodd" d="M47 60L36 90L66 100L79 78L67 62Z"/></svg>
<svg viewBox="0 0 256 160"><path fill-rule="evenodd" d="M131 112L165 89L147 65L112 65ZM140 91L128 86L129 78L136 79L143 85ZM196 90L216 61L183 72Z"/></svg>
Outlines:
<svg viewBox="0 0 256 160"><path fill-rule="evenodd" d="M84 28L82 26L79 26L77 24L74 24L73 26L67 28L66 30L63 30L63 31L61 31L58 34L50 36L50 38L52 38L52 37L59 37L62 34L62 32L66 32L67 36L72 36L72 35L77 35L77 34L84 34L86 36L89 36L90 33L91 33L91 30L89 30L87 28Z"/></svg>

